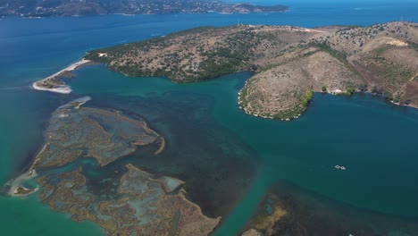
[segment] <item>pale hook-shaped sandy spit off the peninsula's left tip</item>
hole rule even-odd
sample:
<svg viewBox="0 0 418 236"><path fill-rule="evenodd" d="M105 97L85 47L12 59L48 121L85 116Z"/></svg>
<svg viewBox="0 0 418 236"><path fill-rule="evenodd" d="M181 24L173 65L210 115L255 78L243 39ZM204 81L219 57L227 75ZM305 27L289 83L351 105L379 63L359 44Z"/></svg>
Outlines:
<svg viewBox="0 0 418 236"><path fill-rule="evenodd" d="M54 73L42 80L38 80L32 83L32 89L41 90L41 91L50 91L54 93L61 93L61 94L70 94L71 88L70 86L66 85L63 81L60 80L60 77L64 74L68 74L69 72L73 72L79 67L84 66L88 63L92 63L90 60L81 59L79 62L72 63L71 65L65 67L63 70Z"/></svg>

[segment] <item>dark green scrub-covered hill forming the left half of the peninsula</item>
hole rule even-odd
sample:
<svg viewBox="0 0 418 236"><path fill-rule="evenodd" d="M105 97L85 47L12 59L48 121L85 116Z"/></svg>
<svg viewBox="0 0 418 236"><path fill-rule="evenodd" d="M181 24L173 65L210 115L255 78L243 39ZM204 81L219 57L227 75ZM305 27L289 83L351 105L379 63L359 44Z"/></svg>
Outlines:
<svg viewBox="0 0 418 236"><path fill-rule="evenodd" d="M272 63L285 46L318 35L322 33L288 26L203 27L98 49L85 58L128 76L188 82L256 71Z"/></svg>

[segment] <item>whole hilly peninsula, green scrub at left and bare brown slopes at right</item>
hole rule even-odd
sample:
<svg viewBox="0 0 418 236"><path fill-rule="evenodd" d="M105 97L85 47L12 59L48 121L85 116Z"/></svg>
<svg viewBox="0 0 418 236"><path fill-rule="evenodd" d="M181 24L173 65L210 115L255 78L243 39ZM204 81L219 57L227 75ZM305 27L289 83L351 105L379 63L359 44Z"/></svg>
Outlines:
<svg viewBox="0 0 418 236"><path fill-rule="evenodd" d="M370 27L237 25L197 28L88 52L128 76L166 76L174 82L231 72L255 75L239 93L248 114L290 120L313 92L370 91L401 105L418 105L418 24Z"/></svg>

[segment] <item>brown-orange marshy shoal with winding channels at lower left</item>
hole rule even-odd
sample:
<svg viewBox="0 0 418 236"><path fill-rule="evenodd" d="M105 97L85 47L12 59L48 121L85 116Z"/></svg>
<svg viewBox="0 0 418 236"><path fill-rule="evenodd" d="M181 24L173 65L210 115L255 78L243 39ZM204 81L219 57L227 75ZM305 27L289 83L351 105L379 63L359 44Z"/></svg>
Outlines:
<svg viewBox="0 0 418 236"><path fill-rule="evenodd" d="M213 232L221 218L206 217L185 198L184 181L115 162L134 152L160 154L163 137L121 112L80 107L88 100L75 100L52 115L46 144L30 169L38 172L38 198L74 221L98 224L108 235Z"/></svg>

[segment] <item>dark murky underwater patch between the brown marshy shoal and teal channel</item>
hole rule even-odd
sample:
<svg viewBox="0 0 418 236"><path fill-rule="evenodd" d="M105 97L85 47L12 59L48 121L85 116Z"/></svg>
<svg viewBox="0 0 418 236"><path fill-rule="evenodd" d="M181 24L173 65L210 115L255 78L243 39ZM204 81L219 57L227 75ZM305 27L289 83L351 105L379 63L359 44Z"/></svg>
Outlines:
<svg viewBox="0 0 418 236"><path fill-rule="evenodd" d="M138 147L104 168L84 164L91 190L114 192L114 181L134 164L149 173L185 181L186 197L205 215L225 216L245 195L255 174L255 153L210 118L213 100L196 94L165 93L159 97L96 96L88 106L120 110L131 118L146 117L148 126L166 140L163 153ZM103 181L109 180L109 181Z"/></svg>

